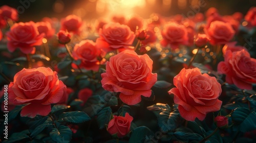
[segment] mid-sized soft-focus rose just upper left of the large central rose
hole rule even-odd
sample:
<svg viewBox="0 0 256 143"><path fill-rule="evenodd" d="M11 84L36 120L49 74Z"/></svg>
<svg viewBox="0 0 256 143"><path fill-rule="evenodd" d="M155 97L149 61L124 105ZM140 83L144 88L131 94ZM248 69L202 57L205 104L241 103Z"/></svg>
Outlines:
<svg viewBox="0 0 256 143"><path fill-rule="evenodd" d="M81 60L80 68L94 71L99 70L101 51L97 49L96 43L92 40L82 40L76 44L72 55L75 60ZM76 65L73 64L72 67L76 68Z"/></svg>

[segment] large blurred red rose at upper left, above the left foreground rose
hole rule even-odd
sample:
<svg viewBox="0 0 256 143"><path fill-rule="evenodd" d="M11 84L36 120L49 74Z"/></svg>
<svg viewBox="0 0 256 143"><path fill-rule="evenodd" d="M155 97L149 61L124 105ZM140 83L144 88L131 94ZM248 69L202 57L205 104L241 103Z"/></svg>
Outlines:
<svg viewBox="0 0 256 143"><path fill-rule="evenodd" d="M42 44L44 34L39 34L33 21L15 23L6 33L7 47L13 52L19 47L24 54L34 54L36 45Z"/></svg>

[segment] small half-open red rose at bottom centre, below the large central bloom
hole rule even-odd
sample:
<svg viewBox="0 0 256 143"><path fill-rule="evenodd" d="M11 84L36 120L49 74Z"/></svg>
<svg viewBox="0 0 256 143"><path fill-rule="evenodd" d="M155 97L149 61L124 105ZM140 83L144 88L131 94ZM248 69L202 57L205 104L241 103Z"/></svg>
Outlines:
<svg viewBox="0 0 256 143"><path fill-rule="evenodd" d="M114 115L114 118L109 122L107 130L111 135L117 134L119 138L124 137L130 132L132 121L133 117L129 113L125 113L124 117Z"/></svg>

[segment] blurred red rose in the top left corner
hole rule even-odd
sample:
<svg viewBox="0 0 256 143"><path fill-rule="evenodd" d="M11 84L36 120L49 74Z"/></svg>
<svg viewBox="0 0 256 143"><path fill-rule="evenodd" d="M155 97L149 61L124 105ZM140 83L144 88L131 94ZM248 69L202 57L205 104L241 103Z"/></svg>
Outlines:
<svg viewBox="0 0 256 143"><path fill-rule="evenodd" d="M17 21L18 20L18 11L12 7L9 7L7 5L4 5L0 7L0 17L2 17L5 20L8 20L7 18Z"/></svg>

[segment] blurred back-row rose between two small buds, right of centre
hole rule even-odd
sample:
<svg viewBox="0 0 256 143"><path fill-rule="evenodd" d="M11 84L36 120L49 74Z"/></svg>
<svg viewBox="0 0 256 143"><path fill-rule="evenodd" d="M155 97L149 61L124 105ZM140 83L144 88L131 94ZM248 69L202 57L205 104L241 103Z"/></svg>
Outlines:
<svg viewBox="0 0 256 143"><path fill-rule="evenodd" d="M164 30L162 31L163 40L161 40L161 44L163 46L167 46L170 44L172 49L178 49L179 45L187 44L187 29L183 25L179 25L176 22L168 22L164 26Z"/></svg>

